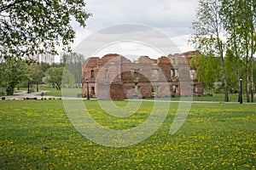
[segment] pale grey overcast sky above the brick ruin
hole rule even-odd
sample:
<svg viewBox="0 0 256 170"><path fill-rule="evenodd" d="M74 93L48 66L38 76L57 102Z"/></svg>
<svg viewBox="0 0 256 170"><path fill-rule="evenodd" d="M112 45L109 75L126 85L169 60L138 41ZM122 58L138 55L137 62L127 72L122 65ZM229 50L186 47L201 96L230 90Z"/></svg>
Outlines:
<svg viewBox="0 0 256 170"><path fill-rule="evenodd" d="M121 29L122 27L117 29L114 27L115 25L133 23L152 27L152 29L156 29L171 38L177 48L171 49L170 47L169 54L194 50L193 47L189 46L188 38L191 33L191 23L195 20L195 8L198 6L198 0L86 0L85 2L87 3L86 10L92 16L86 21L87 26L85 29L79 28L78 25L73 25L77 31L77 37L73 44L74 49L79 45L81 46L81 43L89 43L86 41L88 37L92 37L92 35L96 37L97 32L106 29L106 27L112 26L112 28L115 28L111 32L111 36L117 36L123 30ZM120 41L124 40L124 34L129 37L129 31L135 30L131 29L125 31L125 33L123 32L119 36ZM106 32L102 33L105 34ZM139 37L141 33L137 33L137 36ZM107 39L108 36L109 34L105 35ZM151 37L152 35L149 36ZM101 41L101 38L98 38L97 41ZM157 55L157 53L148 49L148 47L152 46L150 42L148 43L146 45L140 42L111 43L108 47L97 49L94 55L103 55L105 53L128 54L127 50L129 49L131 49L130 54ZM81 51L77 52L81 53Z"/></svg>

